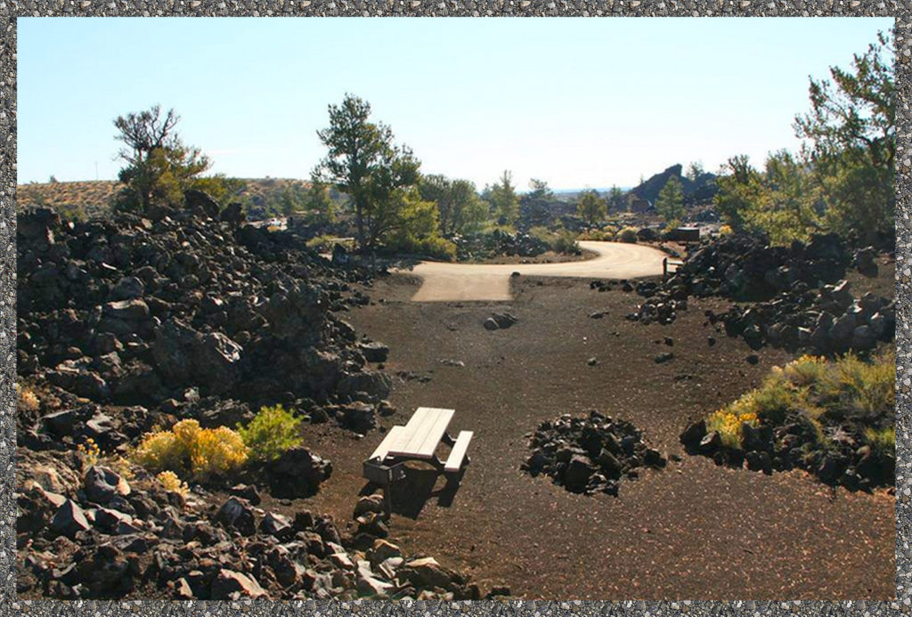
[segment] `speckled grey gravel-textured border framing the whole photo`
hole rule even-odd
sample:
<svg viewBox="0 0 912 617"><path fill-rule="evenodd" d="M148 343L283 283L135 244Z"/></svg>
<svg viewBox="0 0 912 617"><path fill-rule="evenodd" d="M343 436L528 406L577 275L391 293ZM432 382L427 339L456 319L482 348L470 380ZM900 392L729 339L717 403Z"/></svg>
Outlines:
<svg viewBox="0 0 912 617"><path fill-rule="evenodd" d="M896 594L882 602L19 602L16 600L16 19L29 16L880 16L896 19ZM910 77L912 0L0 0L0 617L79 615L84 617L168 617L222 615L860 615L912 612L909 401L912 397L912 344L909 291L912 286L912 112ZM74 109L78 113L78 109Z"/></svg>

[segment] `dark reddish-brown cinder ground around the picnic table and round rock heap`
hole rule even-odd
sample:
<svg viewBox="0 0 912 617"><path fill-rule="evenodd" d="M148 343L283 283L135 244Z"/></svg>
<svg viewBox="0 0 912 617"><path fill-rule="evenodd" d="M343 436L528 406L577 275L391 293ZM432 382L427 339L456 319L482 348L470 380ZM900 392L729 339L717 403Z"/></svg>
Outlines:
<svg viewBox="0 0 912 617"><path fill-rule="evenodd" d="M513 300L496 303L411 302L419 284L408 276L375 283L368 293L384 302L350 314L358 332L389 344L398 412L383 427L418 406L440 406L456 409L453 430L475 433L458 490L420 465L394 489L389 530L403 550L445 557L482 588L503 584L525 598L895 594L895 499L885 491L834 490L802 471L720 467L680 445L689 420L791 359L772 348L752 352L704 325L703 310L720 301L694 300L674 324L644 326L624 318L642 298L597 293L586 280L517 277L507 282ZM482 326L504 311L518 318L512 327ZM603 316L589 316L596 312ZM673 359L656 364L669 349ZM757 364L746 360L751 354ZM591 409L636 425L668 465L625 480L617 497L575 494L522 470L537 427ZM335 468L308 508L350 520L367 488L361 462L383 433L358 439L328 425L307 433Z"/></svg>

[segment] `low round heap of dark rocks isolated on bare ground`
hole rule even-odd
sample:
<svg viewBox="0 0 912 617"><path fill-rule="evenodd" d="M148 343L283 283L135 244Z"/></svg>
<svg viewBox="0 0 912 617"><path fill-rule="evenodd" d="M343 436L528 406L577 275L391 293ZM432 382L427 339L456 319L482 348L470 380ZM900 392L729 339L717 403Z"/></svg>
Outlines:
<svg viewBox="0 0 912 617"><path fill-rule="evenodd" d="M617 496L622 479L638 478L638 468L664 468L656 449L648 447L637 427L592 411L544 422L529 441L532 455L522 469L545 474L572 493L603 492Z"/></svg>

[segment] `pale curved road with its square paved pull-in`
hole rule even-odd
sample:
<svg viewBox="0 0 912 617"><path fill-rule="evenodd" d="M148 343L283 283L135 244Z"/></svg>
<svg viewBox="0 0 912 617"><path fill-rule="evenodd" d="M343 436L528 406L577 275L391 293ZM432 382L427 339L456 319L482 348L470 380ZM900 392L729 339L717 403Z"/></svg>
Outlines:
<svg viewBox="0 0 912 617"><path fill-rule="evenodd" d="M510 275L573 276L632 279L662 273L664 252L648 246L621 242L580 242L593 259L562 263L446 263L420 262L413 270L421 278L412 302L459 300L511 300Z"/></svg>

